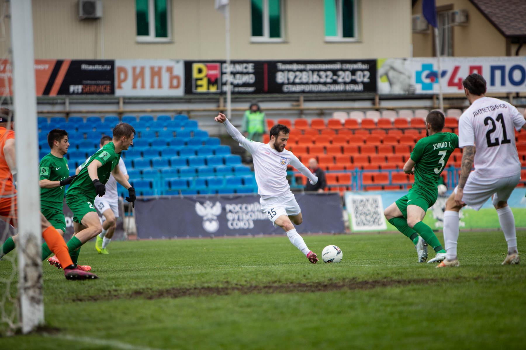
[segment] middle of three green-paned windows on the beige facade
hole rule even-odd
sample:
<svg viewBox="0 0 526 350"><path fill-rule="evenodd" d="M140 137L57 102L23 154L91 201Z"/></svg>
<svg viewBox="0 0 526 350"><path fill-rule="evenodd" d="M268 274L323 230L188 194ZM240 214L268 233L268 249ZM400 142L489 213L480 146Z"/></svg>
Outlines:
<svg viewBox="0 0 526 350"><path fill-rule="evenodd" d="M284 0L251 0L251 41L283 41Z"/></svg>

